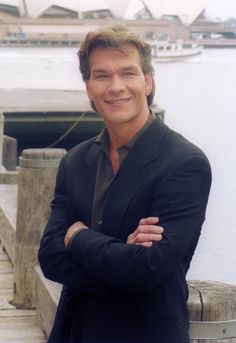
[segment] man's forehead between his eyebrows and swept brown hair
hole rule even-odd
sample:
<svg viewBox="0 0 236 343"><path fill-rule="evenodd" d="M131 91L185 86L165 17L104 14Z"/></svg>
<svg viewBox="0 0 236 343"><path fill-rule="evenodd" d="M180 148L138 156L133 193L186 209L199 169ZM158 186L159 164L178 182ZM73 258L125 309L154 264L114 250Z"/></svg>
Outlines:
<svg viewBox="0 0 236 343"><path fill-rule="evenodd" d="M109 67L111 64L136 65L141 67L141 58L138 49L131 45L126 44L121 49L114 47L96 47L89 55L89 65L91 71L101 65Z"/></svg>

